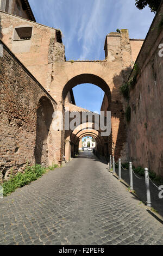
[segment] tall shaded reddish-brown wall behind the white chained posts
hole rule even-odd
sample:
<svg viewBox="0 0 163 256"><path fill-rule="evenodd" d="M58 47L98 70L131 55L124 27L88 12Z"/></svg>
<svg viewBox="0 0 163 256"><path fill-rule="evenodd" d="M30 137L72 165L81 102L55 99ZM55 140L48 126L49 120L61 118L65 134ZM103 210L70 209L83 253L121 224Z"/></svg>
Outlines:
<svg viewBox="0 0 163 256"><path fill-rule="evenodd" d="M155 16L137 58L139 75L130 90L129 159L163 176L163 5ZM163 51L162 51L163 52ZM163 55L163 54L162 54ZM131 74L132 77L134 73Z"/></svg>

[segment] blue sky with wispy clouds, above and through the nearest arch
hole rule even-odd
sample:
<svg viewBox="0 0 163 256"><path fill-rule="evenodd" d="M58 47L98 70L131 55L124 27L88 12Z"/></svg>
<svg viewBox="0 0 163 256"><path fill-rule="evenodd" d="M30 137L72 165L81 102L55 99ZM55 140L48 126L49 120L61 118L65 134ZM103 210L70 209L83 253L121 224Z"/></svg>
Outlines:
<svg viewBox="0 0 163 256"><path fill-rule="evenodd" d="M135 0L29 0L29 3L37 22L61 30L67 60L104 59L106 34L127 28L131 39L144 39L154 17L148 7L137 9ZM73 92L78 106L99 111L100 88L81 84Z"/></svg>

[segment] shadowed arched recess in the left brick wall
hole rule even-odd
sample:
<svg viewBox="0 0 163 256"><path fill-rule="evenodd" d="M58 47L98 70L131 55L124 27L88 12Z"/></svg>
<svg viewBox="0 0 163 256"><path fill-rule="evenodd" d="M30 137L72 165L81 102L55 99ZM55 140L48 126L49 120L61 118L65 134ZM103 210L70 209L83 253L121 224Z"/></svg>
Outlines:
<svg viewBox="0 0 163 256"><path fill-rule="evenodd" d="M37 108L35 163L48 166L48 134L54 109L47 97L41 97Z"/></svg>

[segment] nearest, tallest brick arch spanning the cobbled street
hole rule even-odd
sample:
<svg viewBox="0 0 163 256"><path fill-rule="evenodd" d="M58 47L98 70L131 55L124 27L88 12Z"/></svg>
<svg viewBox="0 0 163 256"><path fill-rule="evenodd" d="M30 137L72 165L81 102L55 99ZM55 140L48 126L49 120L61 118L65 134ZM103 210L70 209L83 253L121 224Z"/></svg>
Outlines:
<svg viewBox="0 0 163 256"><path fill-rule="evenodd" d="M123 83L122 63L120 61L107 62L58 62L54 63L55 78L49 88L49 93L58 103L58 109L64 114L65 97L78 84L91 83L100 87L106 97L103 111L111 111L111 135L106 140L109 154L118 159L122 151L126 152L126 120L124 118L124 104L120 93ZM71 106L77 111L77 106ZM67 138L64 131L58 131L60 138L60 162L64 155ZM59 139L58 138L58 139ZM69 141L71 143L71 141ZM104 151L104 150L103 150Z"/></svg>

